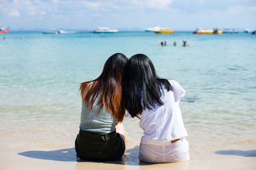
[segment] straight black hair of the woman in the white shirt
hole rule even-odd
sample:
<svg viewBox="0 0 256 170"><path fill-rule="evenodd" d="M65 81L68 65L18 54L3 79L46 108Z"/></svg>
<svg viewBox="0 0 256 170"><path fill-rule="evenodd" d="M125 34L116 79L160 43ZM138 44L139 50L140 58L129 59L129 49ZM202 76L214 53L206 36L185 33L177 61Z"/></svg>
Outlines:
<svg viewBox="0 0 256 170"><path fill-rule="evenodd" d="M132 117L146 108L152 110L162 106L163 87L167 91L173 90L168 80L157 76L147 55L139 53L128 60L123 77L123 96L124 106Z"/></svg>

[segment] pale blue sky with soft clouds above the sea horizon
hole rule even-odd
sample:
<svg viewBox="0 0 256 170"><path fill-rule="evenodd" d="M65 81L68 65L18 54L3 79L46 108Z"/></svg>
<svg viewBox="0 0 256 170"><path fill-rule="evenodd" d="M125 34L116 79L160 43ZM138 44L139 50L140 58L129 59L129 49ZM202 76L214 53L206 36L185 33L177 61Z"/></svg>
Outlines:
<svg viewBox="0 0 256 170"><path fill-rule="evenodd" d="M256 29L256 0L0 0L0 25L11 30Z"/></svg>

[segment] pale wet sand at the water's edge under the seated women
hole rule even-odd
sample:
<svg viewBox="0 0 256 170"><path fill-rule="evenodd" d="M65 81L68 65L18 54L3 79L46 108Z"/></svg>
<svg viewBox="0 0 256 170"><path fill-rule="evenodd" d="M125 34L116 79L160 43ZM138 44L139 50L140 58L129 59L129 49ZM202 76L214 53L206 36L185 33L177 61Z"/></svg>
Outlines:
<svg viewBox="0 0 256 170"><path fill-rule="evenodd" d="M208 149L190 143L191 160L173 164L140 162L138 145L138 141L127 143L123 161L77 162L71 143L30 143L19 147L9 147L6 143L0 146L0 169L256 169L256 141L252 140Z"/></svg>

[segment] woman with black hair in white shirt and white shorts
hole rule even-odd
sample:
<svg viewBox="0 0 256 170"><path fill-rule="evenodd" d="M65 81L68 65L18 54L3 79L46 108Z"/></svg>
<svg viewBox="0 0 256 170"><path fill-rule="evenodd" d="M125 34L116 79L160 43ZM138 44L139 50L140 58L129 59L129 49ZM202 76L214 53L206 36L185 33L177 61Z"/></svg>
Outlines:
<svg viewBox="0 0 256 170"><path fill-rule="evenodd" d="M151 60L136 54L128 60L123 78L125 108L131 117L140 118L144 131L139 159L150 163L189 160L179 108L185 90L174 80L157 76Z"/></svg>

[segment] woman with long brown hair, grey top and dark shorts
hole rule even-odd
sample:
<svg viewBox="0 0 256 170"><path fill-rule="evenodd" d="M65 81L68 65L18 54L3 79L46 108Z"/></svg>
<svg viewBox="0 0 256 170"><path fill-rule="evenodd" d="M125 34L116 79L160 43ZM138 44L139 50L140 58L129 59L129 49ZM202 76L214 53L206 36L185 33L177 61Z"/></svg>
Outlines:
<svg viewBox="0 0 256 170"><path fill-rule="evenodd" d="M119 160L127 140L122 120L122 76L127 57L111 55L100 76L81 83L82 111L76 153L83 160Z"/></svg>

